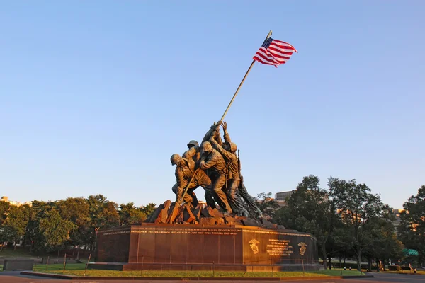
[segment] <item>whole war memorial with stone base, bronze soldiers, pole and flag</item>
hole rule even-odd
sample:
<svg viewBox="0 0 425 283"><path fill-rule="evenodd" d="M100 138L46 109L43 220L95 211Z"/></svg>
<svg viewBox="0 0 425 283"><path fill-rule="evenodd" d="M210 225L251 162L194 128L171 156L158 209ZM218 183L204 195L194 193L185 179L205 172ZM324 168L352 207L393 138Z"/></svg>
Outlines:
<svg viewBox="0 0 425 283"><path fill-rule="evenodd" d="M258 61L277 66L296 50L273 40L271 31L254 55L225 113L200 144L171 155L176 200L167 200L140 225L101 229L93 269L111 270L317 270L317 240L263 218L246 190L237 145L224 117ZM223 130L223 139L220 134ZM195 190L202 187L206 205ZM197 193L202 192L197 190Z"/></svg>

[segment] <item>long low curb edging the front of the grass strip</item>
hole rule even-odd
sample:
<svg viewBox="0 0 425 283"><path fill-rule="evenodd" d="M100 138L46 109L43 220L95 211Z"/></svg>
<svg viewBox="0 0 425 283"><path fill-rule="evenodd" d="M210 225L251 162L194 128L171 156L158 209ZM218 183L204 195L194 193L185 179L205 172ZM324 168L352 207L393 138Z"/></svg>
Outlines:
<svg viewBox="0 0 425 283"><path fill-rule="evenodd" d="M130 276L74 276L74 275L58 275L52 273L41 273L32 271L22 271L21 275L33 275L38 277L50 277L68 280L172 280L172 281L199 281L199 280L227 280L227 281L289 281L289 280L318 280L318 279L349 279L349 278L372 278L373 275L344 275L344 276L309 276L309 277L130 277Z"/></svg>

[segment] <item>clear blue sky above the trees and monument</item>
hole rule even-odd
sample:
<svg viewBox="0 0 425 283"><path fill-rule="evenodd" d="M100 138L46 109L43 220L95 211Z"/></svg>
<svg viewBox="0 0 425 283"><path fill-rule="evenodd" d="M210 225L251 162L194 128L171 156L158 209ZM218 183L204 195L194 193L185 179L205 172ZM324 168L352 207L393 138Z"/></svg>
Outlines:
<svg viewBox="0 0 425 283"><path fill-rule="evenodd" d="M425 185L424 1L4 1L0 195L174 200L171 154L226 117L251 195L355 178ZM202 188L197 190L203 196Z"/></svg>

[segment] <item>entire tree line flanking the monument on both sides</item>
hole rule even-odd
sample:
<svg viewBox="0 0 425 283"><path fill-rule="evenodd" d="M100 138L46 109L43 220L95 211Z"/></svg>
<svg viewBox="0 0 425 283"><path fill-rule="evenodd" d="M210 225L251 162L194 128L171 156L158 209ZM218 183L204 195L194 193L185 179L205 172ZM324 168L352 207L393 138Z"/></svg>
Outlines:
<svg viewBox="0 0 425 283"><path fill-rule="evenodd" d="M404 203L397 227L392 208L356 180L331 177L327 188L322 188L319 178L309 175L287 197L285 206L280 207L271 192L259 194L257 201L273 223L315 236L324 267L331 258L356 258L359 270L362 260L370 268L372 260L402 259L404 248L419 253L419 264L424 260L425 185ZM59 253L70 246L94 250L98 229L140 224L154 209L153 203L118 205L103 195L33 201L32 206L20 207L0 202L0 243L22 242L35 254Z"/></svg>

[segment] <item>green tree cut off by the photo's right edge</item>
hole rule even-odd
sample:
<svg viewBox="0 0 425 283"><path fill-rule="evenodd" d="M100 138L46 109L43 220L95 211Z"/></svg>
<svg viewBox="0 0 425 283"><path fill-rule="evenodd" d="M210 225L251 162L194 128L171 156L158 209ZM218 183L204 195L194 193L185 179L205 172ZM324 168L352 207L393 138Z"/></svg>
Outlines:
<svg viewBox="0 0 425 283"><path fill-rule="evenodd" d="M398 236L406 248L418 251L421 263L425 259L425 185L404 202L403 208Z"/></svg>

